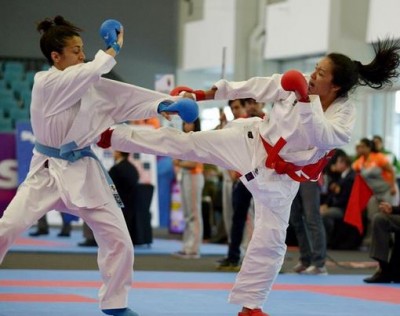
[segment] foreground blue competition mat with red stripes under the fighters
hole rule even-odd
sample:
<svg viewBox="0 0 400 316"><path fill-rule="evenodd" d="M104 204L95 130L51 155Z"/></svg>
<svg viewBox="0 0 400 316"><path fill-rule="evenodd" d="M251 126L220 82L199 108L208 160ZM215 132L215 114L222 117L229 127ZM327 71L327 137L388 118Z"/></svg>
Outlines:
<svg viewBox="0 0 400 316"><path fill-rule="evenodd" d="M279 275L264 310L271 316L400 315L400 285L364 276ZM140 316L234 316L234 273L135 272L129 306ZM0 270L0 316L100 316L97 271Z"/></svg>

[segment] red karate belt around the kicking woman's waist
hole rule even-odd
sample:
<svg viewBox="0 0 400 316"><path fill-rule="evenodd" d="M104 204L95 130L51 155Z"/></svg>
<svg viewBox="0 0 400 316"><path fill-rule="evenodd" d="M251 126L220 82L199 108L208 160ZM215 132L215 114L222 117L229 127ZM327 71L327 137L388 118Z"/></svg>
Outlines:
<svg viewBox="0 0 400 316"><path fill-rule="evenodd" d="M314 164L305 166L297 166L291 162L287 162L279 156L279 152L286 145L284 138L279 138L274 146L268 144L264 138L261 137L264 148L268 154L265 166L274 169L278 174L287 174L290 178L297 182L317 181L322 170L332 158L335 150L331 150L324 157Z"/></svg>

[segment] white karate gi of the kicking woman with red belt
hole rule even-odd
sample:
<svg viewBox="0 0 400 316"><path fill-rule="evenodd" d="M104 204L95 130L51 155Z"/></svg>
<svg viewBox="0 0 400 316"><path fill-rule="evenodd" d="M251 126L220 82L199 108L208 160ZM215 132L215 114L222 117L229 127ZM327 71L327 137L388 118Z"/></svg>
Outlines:
<svg viewBox="0 0 400 316"><path fill-rule="evenodd" d="M355 120L355 108L347 98L337 99L324 113L318 96L311 96L311 103L296 104L295 94L284 91L280 80L274 75L215 84L215 99L274 102L267 119L239 119L231 128L195 133L171 128L144 133L120 126L111 138L112 147L119 150L216 164L243 175L254 198L255 227L230 302L248 308L263 305L281 268L290 206L299 187L288 175L265 167L267 153L260 136L271 145L280 137L286 139L280 156L304 166L348 143Z"/></svg>

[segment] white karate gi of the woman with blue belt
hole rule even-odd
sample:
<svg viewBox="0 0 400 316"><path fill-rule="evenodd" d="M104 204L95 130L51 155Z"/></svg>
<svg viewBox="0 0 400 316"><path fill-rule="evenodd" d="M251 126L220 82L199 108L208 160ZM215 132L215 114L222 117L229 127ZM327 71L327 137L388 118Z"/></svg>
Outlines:
<svg viewBox="0 0 400 316"><path fill-rule="evenodd" d="M37 142L60 148L74 141L83 148L116 122L156 116L161 101L174 100L101 78L115 63L113 57L99 51L92 62L63 71L52 67L36 74L31 122ZM126 307L133 246L122 211L94 158L69 162L34 150L29 174L0 219L0 262L20 233L52 209L68 210L83 218L94 232L104 281L99 291L100 307Z"/></svg>

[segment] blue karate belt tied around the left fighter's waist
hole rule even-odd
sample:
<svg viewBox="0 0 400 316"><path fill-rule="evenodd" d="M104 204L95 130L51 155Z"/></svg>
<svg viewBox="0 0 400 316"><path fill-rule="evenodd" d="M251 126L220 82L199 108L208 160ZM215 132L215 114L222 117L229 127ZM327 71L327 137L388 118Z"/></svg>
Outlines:
<svg viewBox="0 0 400 316"><path fill-rule="evenodd" d="M115 187L114 182L112 181L106 168L104 168L104 166L101 163L101 161L99 160L99 158L93 152L92 148L90 148L90 146L87 146L87 147L84 147L81 149L77 149L77 148L78 148L78 146L76 145L75 142L70 142L68 144L62 145L60 147L60 149L45 146L43 144L35 142L35 149L38 152L40 152L41 154L46 155L48 157L63 159L63 160L67 160L69 162L75 162L79 159L82 159L83 157L91 157L93 159L96 159L97 162L99 163L101 169L103 170L103 173L106 177L108 185L110 186L110 189L114 196L115 201L117 202L119 207L124 207L124 203L122 202L121 197L119 196L119 194L117 192L117 188Z"/></svg>

